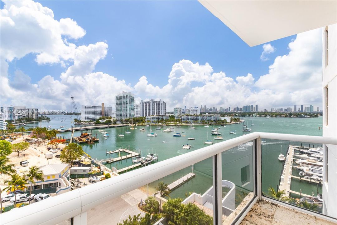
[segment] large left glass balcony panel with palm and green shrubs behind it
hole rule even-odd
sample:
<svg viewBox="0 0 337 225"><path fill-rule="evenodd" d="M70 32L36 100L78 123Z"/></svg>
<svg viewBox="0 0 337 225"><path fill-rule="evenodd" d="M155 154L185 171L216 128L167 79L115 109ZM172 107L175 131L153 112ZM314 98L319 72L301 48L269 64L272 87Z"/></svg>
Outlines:
<svg viewBox="0 0 337 225"><path fill-rule="evenodd" d="M91 209L87 212L88 224L118 224L130 218L150 221L146 224L159 220L162 224L184 224L193 218L199 224L211 225L213 205L206 201L206 192L213 183L212 171L210 157ZM170 190L163 195L157 191L161 182Z"/></svg>

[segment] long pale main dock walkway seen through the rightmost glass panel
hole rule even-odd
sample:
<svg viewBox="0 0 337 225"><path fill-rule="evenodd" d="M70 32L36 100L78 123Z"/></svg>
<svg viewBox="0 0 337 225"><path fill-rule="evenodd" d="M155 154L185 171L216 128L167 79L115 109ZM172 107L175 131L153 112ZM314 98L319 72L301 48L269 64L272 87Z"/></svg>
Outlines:
<svg viewBox="0 0 337 225"><path fill-rule="evenodd" d="M290 194L290 183L292 181L294 151L294 146L289 145L287 156L285 157L283 172L280 177L280 185L278 188L279 191L285 190L285 195L287 197L289 197Z"/></svg>

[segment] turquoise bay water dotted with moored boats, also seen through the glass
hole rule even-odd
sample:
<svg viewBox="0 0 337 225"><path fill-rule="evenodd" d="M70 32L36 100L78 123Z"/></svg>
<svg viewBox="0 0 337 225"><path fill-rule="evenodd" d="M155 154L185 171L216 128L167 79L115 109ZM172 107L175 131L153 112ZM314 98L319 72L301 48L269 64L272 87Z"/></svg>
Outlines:
<svg viewBox="0 0 337 225"><path fill-rule="evenodd" d="M48 126L51 125L52 128L59 128L61 125L66 127L71 126L71 121L74 116L63 116L63 115L52 115L51 121L41 122L41 123L31 123L27 124L27 127L33 126ZM69 118L71 117L71 118ZM62 119L63 118L63 119ZM64 120L66 119L66 120ZM259 117L247 117L242 118L248 123L248 127L252 131L261 132L272 132L272 133L288 133L288 134L302 134L302 135L314 135L321 136L322 130L318 127L322 126L322 117L318 118L259 118ZM64 120L64 122L60 122ZM254 123L253 126L250 124ZM109 133L109 138L104 138L103 135L98 132L98 129L92 130L93 135L97 135L99 142L93 145L83 144L83 150L88 153L91 157L97 159L109 158L106 155L106 151L112 151L118 148L130 148L133 150L140 150L142 155L145 156L148 153L158 154L158 161L162 161L168 158L172 158L177 155L184 154L189 151L193 151L199 148L203 148L203 142L208 140L213 140L214 136L211 135L211 130L213 126L206 128L204 125L195 125L195 129L189 129L188 126L182 126L181 128L176 128L173 132L162 132L163 129L168 128L162 127L161 130L155 130L156 126L152 126L152 132L157 133L157 137L149 137L147 133L150 127L145 127L147 131L140 131L140 128L144 126L136 126L137 129L130 130L130 127L121 128L106 128L106 132ZM221 127L219 130L222 133L223 140L213 140L214 143L218 143L224 140L235 138L243 135L242 124L227 125L227 127L222 127L220 125L214 125L214 127ZM237 134L229 134L231 130L236 130ZM126 134L125 131L130 131L130 134ZM185 131L186 133L182 133ZM173 134L180 132L181 137L173 137ZM124 137L118 137L119 133L124 134ZM70 137L70 132L62 132L59 135L65 135ZM75 136L80 135L79 131L76 131ZM187 138L195 138L195 140L189 141ZM263 192L267 193L269 186L273 186L276 189L276 185L279 184L279 176L281 174L282 163L277 159L280 152L285 154L289 142L279 141L279 140L266 140L267 142L262 145L262 166L263 166ZM291 141L291 140L289 140ZM165 142L165 143L163 143ZM193 146L192 149L182 149L182 145L190 144ZM300 143L299 143L300 144ZM303 143L304 144L304 143ZM118 155L111 155L111 157L117 157ZM123 160L117 163L107 164L108 167L116 167L121 169L132 165L131 159ZM253 163L252 163L252 143L246 143L244 145L238 146L231 150L222 153L222 177L223 179L230 180L234 182L238 187L242 187L243 190L252 191L252 181L253 180ZM248 180L249 182L242 183L241 169L248 166ZM177 180L181 176L192 172L191 166L166 176L161 179L167 184ZM193 165L193 172L196 174L195 178L188 181L178 189L171 193L171 197L185 197L185 193L196 192L203 194L207 191L210 186L212 186L212 160L211 158L203 160L200 163ZM149 187L153 188L157 186L158 181L149 184ZM301 188L303 193L311 194L313 185L307 185L305 183L299 183L299 181L292 181L292 190L298 191ZM321 189L319 189L321 193Z"/></svg>

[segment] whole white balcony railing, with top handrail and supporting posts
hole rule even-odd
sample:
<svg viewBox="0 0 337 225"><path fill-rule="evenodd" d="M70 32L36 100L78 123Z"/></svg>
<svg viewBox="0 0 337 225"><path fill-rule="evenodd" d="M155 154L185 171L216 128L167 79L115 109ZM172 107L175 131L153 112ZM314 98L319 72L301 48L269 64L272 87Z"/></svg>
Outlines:
<svg viewBox="0 0 337 225"><path fill-rule="evenodd" d="M0 215L1 224L58 224L73 218L73 224L86 224L87 211L109 200L119 197L143 185L161 179L192 164L213 157L214 224L222 221L222 176L221 153L246 142L254 141L255 197L238 215L234 223L239 223L252 205L262 197L261 185L261 138L286 141L300 141L317 144L337 145L336 138L253 132L218 144L207 146L179 155L150 166L127 172L113 179L104 180L76 189L53 198L43 200L22 208L14 208ZM280 203L281 204L281 203ZM295 206L294 206L295 207ZM297 208L298 210L301 210ZM306 213L310 213L307 212ZM312 213L323 217L318 213ZM326 218L325 218L326 219ZM329 219L329 218L328 218Z"/></svg>

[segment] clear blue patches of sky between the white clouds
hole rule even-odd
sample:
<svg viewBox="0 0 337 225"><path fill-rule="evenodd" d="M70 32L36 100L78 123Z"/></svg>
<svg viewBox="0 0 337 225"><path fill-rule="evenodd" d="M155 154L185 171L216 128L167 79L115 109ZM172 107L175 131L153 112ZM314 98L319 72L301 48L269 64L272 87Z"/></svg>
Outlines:
<svg viewBox="0 0 337 225"><path fill-rule="evenodd" d="M177 96L182 93L172 94L172 89L165 88L165 85L170 84L168 76L173 71L173 65L179 63L180 60L189 60L192 64L198 62L199 65L208 63L212 68L208 70L210 72L208 78L189 79L187 92L192 91L195 87L206 88L205 84L212 80L212 73L223 72L227 78L233 78L234 82L236 82L235 80L238 76L244 77L247 74L252 74L254 81L242 85L248 89L247 93L260 93L265 89L269 89L268 82L264 84L261 84L261 82L257 84L255 82L263 75L270 75L269 66L274 64L274 59L277 56L287 55L290 51L288 44L296 39L296 35L293 35L271 42L270 44L275 48L275 51L267 55L269 60L263 61L260 59L263 52L262 45L249 47L197 1L39 2L42 6L48 7L53 11L55 21L60 21L62 18L71 18L86 31L85 35L82 35L78 39L69 38L67 35L61 34L63 40L66 38L68 42L76 46L88 46L97 42L105 42L108 45L105 56L100 57L98 62L94 64L94 69L89 72L102 72L109 74L109 76L117 80L125 80L125 85L130 87L130 90L126 91L134 91L136 95L138 94L137 97L142 99L163 98L167 95L175 96L174 99L165 99L167 102L175 102L175 105L173 103L170 105L172 107L185 104L189 104L190 106L204 105L210 102L209 98L212 97L210 96L200 101L199 104L195 99L189 102L189 99L193 97L191 95L185 95L181 99L178 99L179 97ZM1 2L1 9L4 9L3 2ZM22 33L22 35L25 36L25 33ZM7 41L6 43L5 41L2 43L3 45L6 45ZM10 43L10 40L8 43ZM29 43L25 44L29 45ZM41 52L41 50L36 51ZM6 57L3 56L3 58ZM29 76L33 87L34 84L37 84L48 75L53 77L53 82L55 80L62 84L69 82L69 80L62 80L60 74L65 73L69 66L72 65L72 59L63 60L68 63L64 67L59 62L43 62L38 64L36 58L37 53L32 50L25 52L24 56L14 57L12 60L5 59L8 63L8 88L10 88L10 82L13 82L14 79L19 79L14 77L16 71L21 71L26 76ZM303 64L306 63L308 62L303 62ZM4 72L2 72L1 76L5 76ZM147 90L149 93L145 93L145 90L143 90L144 92L137 90L135 87L142 76L145 76L147 82L152 85ZM187 76L190 76L190 74ZM270 80L273 79L272 76L270 75ZM275 79L277 79L277 76ZM155 89L155 86L158 86L158 88ZM41 89L42 87L34 88ZM275 88L275 90L271 90L272 95L277 95L275 93L277 87ZM149 90L153 92L153 96L151 96L151 91ZM85 92L85 90L82 91ZM94 92L96 93L97 91L99 90ZM159 96L155 91L167 93L164 96ZM223 91L226 91L226 89ZM74 90L73 93L71 93L71 90L67 92L73 95L77 94ZM233 92L232 94L235 95L238 91L228 90L228 92ZM109 90L106 94L101 93L99 96L106 96L107 94L114 95L117 93L115 93L115 90ZM221 93L217 95L221 95ZM225 95L221 101L211 101L210 104L219 107L242 106L250 103L259 104L256 98L252 98L246 102L249 96L242 96L242 98L235 101L228 101L231 95ZM40 98L45 99L44 96L40 96ZM19 101L5 95L2 95L2 100L11 104L22 103L22 99ZM45 100L48 101L48 99ZM95 103L90 98L79 100L83 104ZM106 98L105 101L108 101L108 104L114 104L112 97ZM316 99L311 101L319 104ZM264 107L285 107L296 103L294 101L284 101L276 104L276 102L271 102L269 105L266 104ZM310 100L301 99L301 103L309 104ZM40 107L56 107L57 105L57 103L40 104ZM68 104L62 104L62 107L68 106Z"/></svg>

